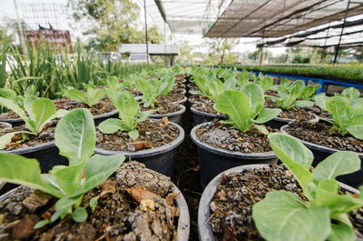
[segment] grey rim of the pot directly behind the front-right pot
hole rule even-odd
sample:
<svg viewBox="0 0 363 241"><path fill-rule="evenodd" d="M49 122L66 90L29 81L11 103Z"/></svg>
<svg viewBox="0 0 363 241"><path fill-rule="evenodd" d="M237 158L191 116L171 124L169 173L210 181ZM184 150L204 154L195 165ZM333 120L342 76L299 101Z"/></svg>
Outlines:
<svg viewBox="0 0 363 241"><path fill-rule="evenodd" d="M202 149L205 149L211 153L223 155L223 156L230 156L240 159L253 159L253 160L260 160L260 159L272 159L277 158L277 155L273 152L261 152L261 153L241 153L237 151L229 151L225 150L219 147L214 147L206 143L202 143L201 140L198 138L196 134L196 130L199 129L201 126L207 126L210 125L211 122L202 123L198 126L194 126L191 129L191 140L194 142L195 145L198 147L201 147Z"/></svg>

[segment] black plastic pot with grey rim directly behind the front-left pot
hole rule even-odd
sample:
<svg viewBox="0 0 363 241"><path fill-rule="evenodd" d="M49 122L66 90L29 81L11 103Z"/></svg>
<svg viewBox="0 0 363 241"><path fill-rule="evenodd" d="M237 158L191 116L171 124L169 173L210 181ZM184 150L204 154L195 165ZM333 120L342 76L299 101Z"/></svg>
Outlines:
<svg viewBox="0 0 363 241"><path fill-rule="evenodd" d="M171 124L178 127L180 134L175 140L172 141L172 143L165 146L135 152L109 151L94 147L94 153L103 156L122 154L126 157L126 160L129 159L141 162L149 169L172 177L172 173L174 171L176 148L182 144L185 134L181 126L174 123Z"/></svg>

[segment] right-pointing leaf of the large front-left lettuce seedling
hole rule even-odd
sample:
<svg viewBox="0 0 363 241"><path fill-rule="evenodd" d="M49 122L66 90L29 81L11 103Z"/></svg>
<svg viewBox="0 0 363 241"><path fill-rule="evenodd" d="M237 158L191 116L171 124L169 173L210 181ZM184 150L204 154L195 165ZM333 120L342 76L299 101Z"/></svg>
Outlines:
<svg viewBox="0 0 363 241"><path fill-rule="evenodd" d="M123 155L93 155L85 163L85 182L72 196L82 195L101 184L123 164Z"/></svg>

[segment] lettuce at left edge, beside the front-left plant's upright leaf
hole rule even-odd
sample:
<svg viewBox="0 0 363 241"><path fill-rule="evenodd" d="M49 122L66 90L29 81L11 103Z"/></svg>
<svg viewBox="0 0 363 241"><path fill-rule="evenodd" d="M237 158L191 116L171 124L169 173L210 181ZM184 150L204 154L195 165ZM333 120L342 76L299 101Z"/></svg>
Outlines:
<svg viewBox="0 0 363 241"><path fill-rule="evenodd" d="M16 134L38 135L42 132L45 124L68 113L68 111L63 109L56 111L55 105L50 99L37 98L34 95L25 97L23 107L4 97L0 97L0 105L13 110L19 115L25 121L25 128L29 130L11 132L0 136L0 149L4 149L6 144L10 143Z"/></svg>

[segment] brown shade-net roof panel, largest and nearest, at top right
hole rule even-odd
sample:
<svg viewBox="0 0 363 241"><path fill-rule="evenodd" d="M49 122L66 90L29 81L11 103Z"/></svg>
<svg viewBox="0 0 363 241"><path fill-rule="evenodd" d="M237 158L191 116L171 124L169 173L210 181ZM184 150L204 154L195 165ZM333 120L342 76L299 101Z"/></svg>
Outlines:
<svg viewBox="0 0 363 241"><path fill-rule="evenodd" d="M233 0L207 37L280 37L361 15L363 0Z"/></svg>

